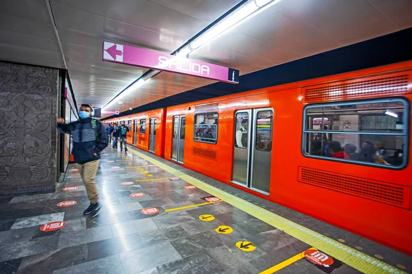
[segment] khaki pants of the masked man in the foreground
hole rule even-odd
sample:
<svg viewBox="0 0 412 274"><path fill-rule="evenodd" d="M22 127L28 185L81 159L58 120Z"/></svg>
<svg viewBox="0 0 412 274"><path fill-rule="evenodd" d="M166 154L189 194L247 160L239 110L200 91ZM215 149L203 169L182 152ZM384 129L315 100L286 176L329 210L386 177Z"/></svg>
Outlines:
<svg viewBox="0 0 412 274"><path fill-rule="evenodd" d="M92 203L99 201L98 189L96 188L95 176L98 173L100 160L87 162L86 164L76 164L80 176L82 176L83 184L86 186L87 197Z"/></svg>

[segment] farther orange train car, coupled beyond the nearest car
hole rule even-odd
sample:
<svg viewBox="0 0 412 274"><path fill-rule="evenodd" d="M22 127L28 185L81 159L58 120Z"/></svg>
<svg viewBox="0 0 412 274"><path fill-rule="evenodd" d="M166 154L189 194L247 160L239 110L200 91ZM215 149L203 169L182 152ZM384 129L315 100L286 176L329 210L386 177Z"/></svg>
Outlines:
<svg viewBox="0 0 412 274"><path fill-rule="evenodd" d="M130 130L126 137L128 145L133 145L163 157L165 151L164 108L108 119L104 123L121 123L122 121L125 121Z"/></svg>

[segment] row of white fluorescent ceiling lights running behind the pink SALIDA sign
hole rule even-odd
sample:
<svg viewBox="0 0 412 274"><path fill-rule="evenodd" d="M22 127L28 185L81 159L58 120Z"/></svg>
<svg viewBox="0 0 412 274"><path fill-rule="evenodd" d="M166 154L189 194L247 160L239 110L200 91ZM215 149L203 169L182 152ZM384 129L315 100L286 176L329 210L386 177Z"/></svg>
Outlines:
<svg viewBox="0 0 412 274"><path fill-rule="evenodd" d="M240 8L238 8L237 10L231 12L231 14L229 14L221 21L216 23L216 25L207 29L206 32L201 34L201 36L198 36L196 39L190 42L190 44L183 47L183 49L179 50L179 52L175 55L177 57L185 57L189 55L196 49L200 48L202 45L205 45L205 43L210 42L214 38L220 36L222 33L235 27L236 25L239 25L240 23L243 23L244 21L249 20L253 16L260 14L260 12L263 12L264 10L271 8L271 6L275 5L276 3L279 3L280 1L281 0L250 0L247 3L244 3L244 5L240 6ZM137 88L139 88L139 86L144 84L144 82L147 82L149 79L155 77L155 75L159 74L160 72L161 71L154 70L151 71L144 78L139 78L137 82L135 82L135 84L129 86L128 88L126 88L126 90L123 90L123 92L121 92L119 95L117 95L117 97L112 99L112 101L107 103L102 109L107 109L108 106L112 105L125 95L128 95L130 91L136 90Z"/></svg>

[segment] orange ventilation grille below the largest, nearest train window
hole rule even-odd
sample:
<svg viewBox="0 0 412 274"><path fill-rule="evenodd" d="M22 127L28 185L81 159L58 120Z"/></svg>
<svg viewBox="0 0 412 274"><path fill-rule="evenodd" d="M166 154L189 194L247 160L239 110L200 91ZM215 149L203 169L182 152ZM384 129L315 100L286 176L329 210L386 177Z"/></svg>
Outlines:
<svg viewBox="0 0 412 274"><path fill-rule="evenodd" d="M408 186L400 186L351 175L309 169L303 166L299 166L298 181L379 201L381 203L389 203L393 206L410 208L409 199L411 188Z"/></svg>

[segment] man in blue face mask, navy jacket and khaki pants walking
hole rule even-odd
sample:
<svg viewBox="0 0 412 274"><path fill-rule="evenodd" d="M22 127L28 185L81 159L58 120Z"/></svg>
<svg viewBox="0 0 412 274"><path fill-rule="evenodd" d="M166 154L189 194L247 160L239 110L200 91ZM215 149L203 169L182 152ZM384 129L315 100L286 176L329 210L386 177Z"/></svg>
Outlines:
<svg viewBox="0 0 412 274"><path fill-rule="evenodd" d="M66 124L64 118L58 118L57 129L60 133L71 134L73 137L74 162L82 176L90 200L90 206L83 214L91 214L94 218L101 208L95 175L100 163L100 152L107 147L108 136L104 125L91 118L92 112L93 108L90 105L83 104L79 112L79 121Z"/></svg>

